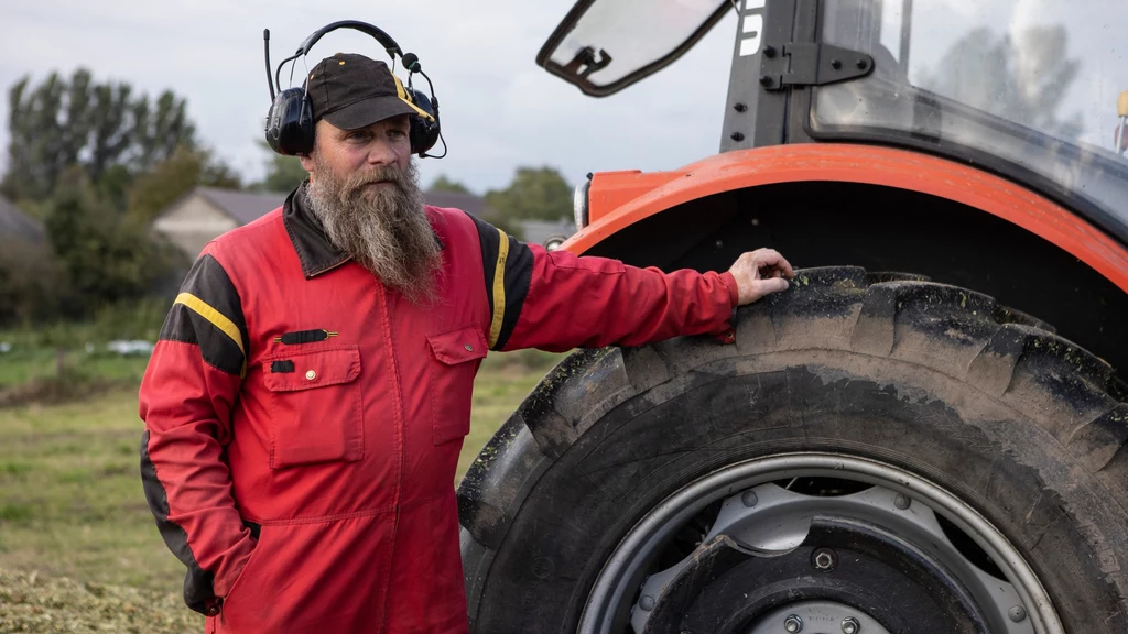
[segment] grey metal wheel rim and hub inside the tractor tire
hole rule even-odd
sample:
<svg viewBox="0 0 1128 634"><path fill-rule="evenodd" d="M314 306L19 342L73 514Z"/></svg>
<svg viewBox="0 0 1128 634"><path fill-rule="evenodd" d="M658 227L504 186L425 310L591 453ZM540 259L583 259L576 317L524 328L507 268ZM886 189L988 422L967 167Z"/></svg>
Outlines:
<svg viewBox="0 0 1128 634"><path fill-rule="evenodd" d="M740 473L756 469L738 465L658 507L600 573L581 631L1061 632L1029 566L973 510L899 469L838 457L822 470L825 459L764 460L793 468L760 465L752 478ZM843 468L852 463L853 474ZM779 476L863 484L813 495ZM715 518L671 565L673 536L710 504ZM953 530L978 546L953 541Z"/></svg>

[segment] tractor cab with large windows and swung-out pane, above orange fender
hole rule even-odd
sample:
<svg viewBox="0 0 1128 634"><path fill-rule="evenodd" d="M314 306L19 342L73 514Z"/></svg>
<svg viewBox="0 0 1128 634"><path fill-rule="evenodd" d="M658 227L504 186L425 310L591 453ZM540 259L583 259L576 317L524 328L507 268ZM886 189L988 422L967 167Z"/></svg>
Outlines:
<svg viewBox="0 0 1128 634"><path fill-rule="evenodd" d="M581 0L537 62L611 95L730 14L722 152L836 141L942 156L1128 241L1128 3Z"/></svg>

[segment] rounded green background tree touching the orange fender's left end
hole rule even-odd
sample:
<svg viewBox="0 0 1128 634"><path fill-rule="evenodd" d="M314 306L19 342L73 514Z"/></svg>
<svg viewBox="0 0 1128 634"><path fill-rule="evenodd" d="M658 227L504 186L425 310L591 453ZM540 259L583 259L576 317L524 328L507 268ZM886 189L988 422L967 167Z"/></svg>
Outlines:
<svg viewBox="0 0 1128 634"><path fill-rule="evenodd" d="M508 221L559 220L572 215L572 187L552 167L519 167L504 190L491 190L486 204Z"/></svg>

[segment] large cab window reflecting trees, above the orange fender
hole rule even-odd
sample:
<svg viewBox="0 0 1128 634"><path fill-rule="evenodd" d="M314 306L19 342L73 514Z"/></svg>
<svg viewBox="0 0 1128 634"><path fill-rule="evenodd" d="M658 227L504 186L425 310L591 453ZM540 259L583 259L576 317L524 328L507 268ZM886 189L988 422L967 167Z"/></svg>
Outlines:
<svg viewBox="0 0 1128 634"><path fill-rule="evenodd" d="M870 53L875 70L816 90L817 137L932 146L1120 219L1107 228L1128 220L1128 160L1117 146L1128 1L825 7L823 42Z"/></svg>

